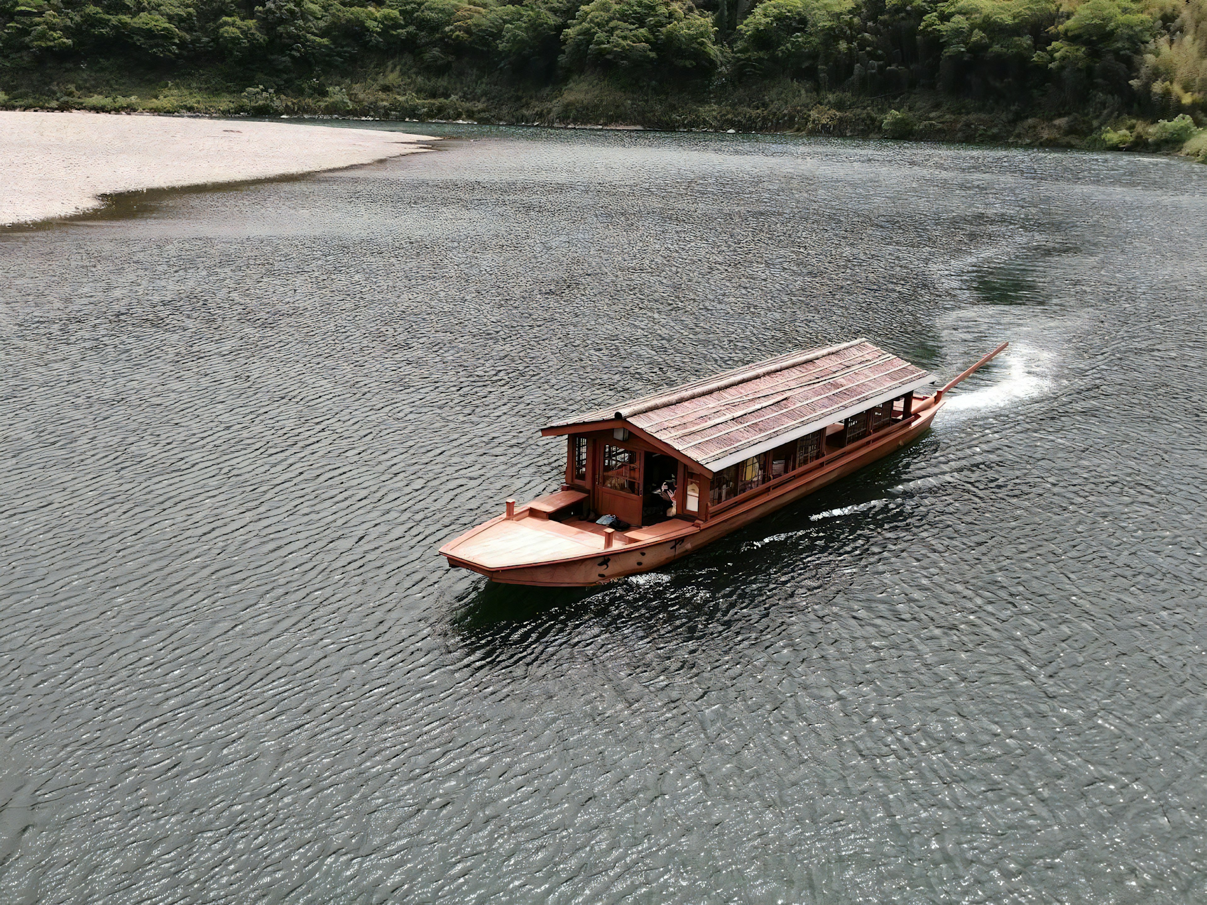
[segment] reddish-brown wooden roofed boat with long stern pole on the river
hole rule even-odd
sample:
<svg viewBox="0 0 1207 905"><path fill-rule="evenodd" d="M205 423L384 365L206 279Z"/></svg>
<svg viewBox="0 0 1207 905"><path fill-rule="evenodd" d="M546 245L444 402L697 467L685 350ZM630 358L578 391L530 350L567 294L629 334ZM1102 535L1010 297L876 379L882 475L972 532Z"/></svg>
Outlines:
<svg viewBox="0 0 1207 905"><path fill-rule="evenodd" d="M855 339L556 421L541 434L567 438L561 490L508 500L441 554L495 582L549 586L665 566L910 443L1005 346L932 396L920 390L933 374Z"/></svg>

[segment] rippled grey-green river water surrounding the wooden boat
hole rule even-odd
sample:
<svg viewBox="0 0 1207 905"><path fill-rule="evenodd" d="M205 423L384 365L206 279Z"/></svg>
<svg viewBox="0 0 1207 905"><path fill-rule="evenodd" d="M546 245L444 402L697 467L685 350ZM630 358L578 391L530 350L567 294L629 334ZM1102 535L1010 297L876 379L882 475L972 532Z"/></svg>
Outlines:
<svg viewBox="0 0 1207 905"><path fill-rule="evenodd" d="M0 235L0 901L1207 900L1207 168L444 133ZM857 335L1011 346L661 572L437 556Z"/></svg>

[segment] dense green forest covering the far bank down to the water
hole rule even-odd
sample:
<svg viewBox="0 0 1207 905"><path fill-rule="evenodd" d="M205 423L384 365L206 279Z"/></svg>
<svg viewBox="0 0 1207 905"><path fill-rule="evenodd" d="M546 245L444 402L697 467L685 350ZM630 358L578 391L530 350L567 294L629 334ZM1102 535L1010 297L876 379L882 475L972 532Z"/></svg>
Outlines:
<svg viewBox="0 0 1207 905"><path fill-rule="evenodd" d="M0 0L0 91L1207 154L1207 0Z"/></svg>

